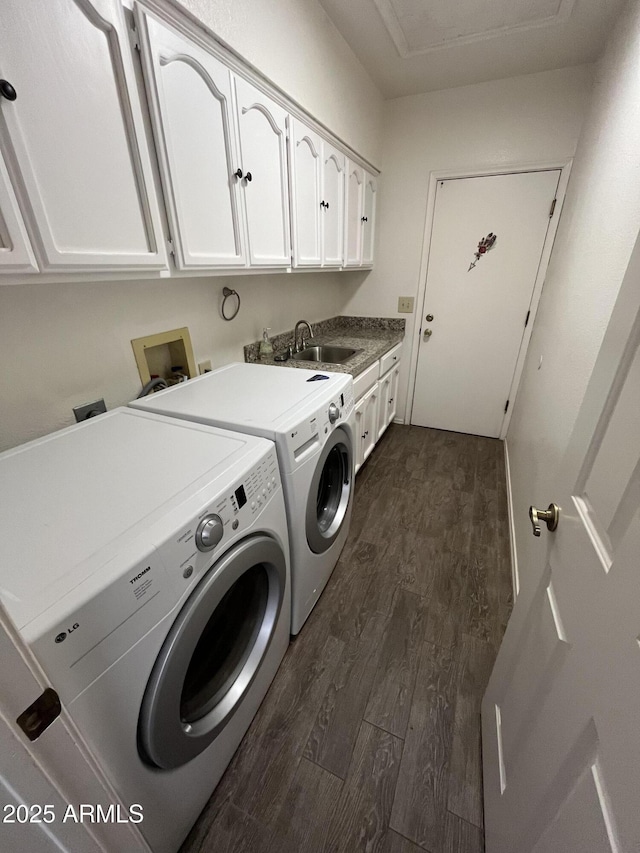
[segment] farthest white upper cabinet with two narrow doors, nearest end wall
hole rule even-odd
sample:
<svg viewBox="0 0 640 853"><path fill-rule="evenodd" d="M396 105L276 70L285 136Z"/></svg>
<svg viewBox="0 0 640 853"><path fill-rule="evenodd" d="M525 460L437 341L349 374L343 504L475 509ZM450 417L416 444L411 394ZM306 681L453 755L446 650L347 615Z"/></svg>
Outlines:
<svg viewBox="0 0 640 853"><path fill-rule="evenodd" d="M347 160L345 266L373 265L377 181Z"/></svg>

